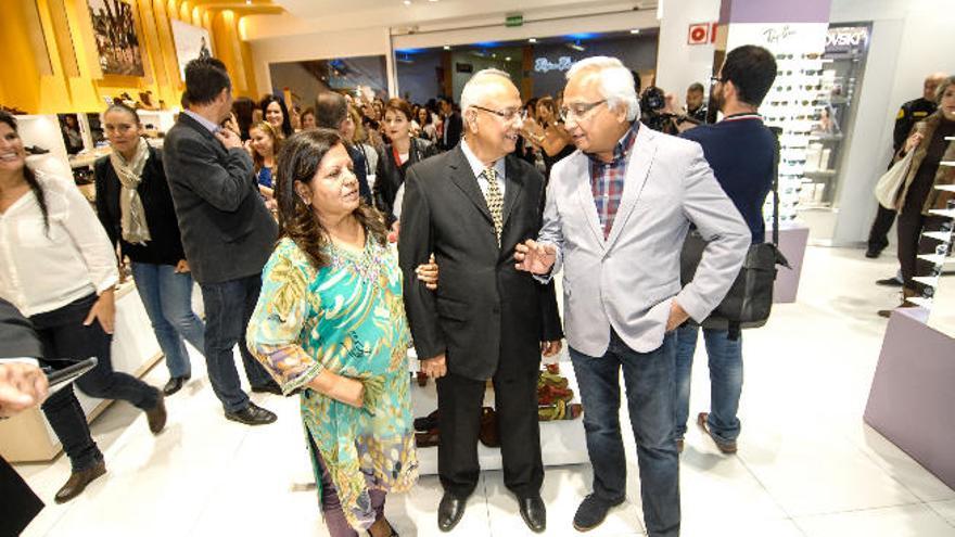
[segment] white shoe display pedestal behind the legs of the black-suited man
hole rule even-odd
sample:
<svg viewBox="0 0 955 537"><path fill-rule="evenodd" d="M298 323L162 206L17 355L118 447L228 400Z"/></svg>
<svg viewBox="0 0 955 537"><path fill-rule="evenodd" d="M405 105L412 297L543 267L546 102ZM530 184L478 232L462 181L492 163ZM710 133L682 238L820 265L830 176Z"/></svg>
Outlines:
<svg viewBox="0 0 955 537"><path fill-rule="evenodd" d="M413 361L418 361L413 358ZM568 380L568 387L574 391L573 402L581 402L577 380L569 362L561 365L560 374ZM494 391L484 396L484 406L494 408ZM437 408L437 391L434 380L429 379L423 388L411 380L411 409L416 418L422 418ZM586 412L587 409L584 409ZM540 455L545 466L580 464L588 462L587 443L584 437L584 418L574 420L540 422ZM481 470L500 470L500 448L489 448L478 443L478 462ZM437 474L437 446L418 449L418 472L421 475Z"/></svg>

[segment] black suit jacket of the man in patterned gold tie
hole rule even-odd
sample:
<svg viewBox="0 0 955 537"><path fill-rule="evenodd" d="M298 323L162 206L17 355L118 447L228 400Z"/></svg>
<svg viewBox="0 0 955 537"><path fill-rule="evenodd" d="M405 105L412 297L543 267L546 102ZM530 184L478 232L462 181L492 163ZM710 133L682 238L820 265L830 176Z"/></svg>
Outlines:
<svg viewBox="0 0 955 537"><path fill-rule="evenodd" d="M402 209L399 263L405 310L420 358L446 354L448 370L475 380L539 368L540 342L561 338L552 286L514 268L514 246L540 229L544 177L506 157L501 247L478 179L460 146L408 169ZM436 292L415 278L434 252Z"/></svg>

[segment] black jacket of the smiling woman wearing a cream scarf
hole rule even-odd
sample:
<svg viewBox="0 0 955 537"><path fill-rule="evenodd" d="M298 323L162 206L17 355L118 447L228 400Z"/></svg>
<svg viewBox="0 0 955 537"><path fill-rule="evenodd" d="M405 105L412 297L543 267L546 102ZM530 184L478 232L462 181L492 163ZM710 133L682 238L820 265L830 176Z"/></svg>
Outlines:
<svg viewBox="0 0 955 537"><path fill-rule="evenodd" d="M123 186L110 157L104 156L97 161L93 169L97 178L97 216L100 217L106 234L110 235L110 243L119 243L122 255L129 256L136 263L154 265L176 265L180 259L186 259L182 239L179 235L179 222L176 220L176 208L173 206L173 195L169 193L169 183L163 170L162 151L150 146L150 157L142 169L142 181L136 189L142 200L145 221L152 238L145 246L129 244L123 240L123 227L119 221L122 218L119 192L123 191Z"/></svg>

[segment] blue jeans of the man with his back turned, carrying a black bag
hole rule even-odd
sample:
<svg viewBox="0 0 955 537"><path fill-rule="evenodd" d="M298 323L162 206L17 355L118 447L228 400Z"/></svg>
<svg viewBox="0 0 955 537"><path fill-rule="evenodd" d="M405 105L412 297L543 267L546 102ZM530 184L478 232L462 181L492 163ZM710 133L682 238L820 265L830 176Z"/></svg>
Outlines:
<svg viewBox="0 0 955 537"><path fill-rule="evenodd" d="M690 372L700 327L684 324L677 329L676 350L676 429L677 438L687 430L690 408ZM740 423L736 417L742 394L742 336L729 341L727 330L703 329L703 342L710 357L710 432L722 443L736 442Z"/></svg>

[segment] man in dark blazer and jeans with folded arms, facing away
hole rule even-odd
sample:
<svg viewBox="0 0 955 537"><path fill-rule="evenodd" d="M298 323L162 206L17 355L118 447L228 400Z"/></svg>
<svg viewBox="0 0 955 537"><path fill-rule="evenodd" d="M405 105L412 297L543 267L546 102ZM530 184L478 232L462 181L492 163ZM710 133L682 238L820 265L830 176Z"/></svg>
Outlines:
<svg viewBox="0 0 955 537"><path fill-rule="evenodd" d="M239 136L219 125L229 118L232 84L222 62L207 57L186 66L189 108L169 129L163 164L182 233L182 246L205 305L205 359L226 418L246 425L276 414L242 391L232 349L237 343L253 392L279 393L278 385L245 348L245 327L258 301L262 268L278 227L252 174L252 158Z"/></svg>

